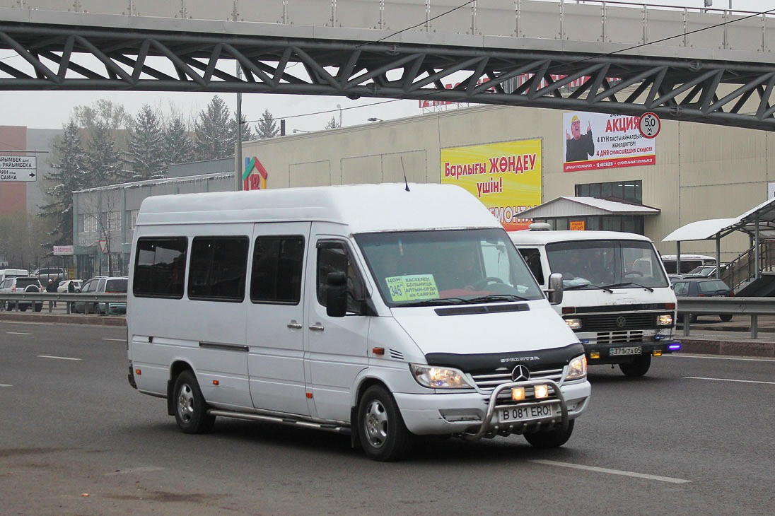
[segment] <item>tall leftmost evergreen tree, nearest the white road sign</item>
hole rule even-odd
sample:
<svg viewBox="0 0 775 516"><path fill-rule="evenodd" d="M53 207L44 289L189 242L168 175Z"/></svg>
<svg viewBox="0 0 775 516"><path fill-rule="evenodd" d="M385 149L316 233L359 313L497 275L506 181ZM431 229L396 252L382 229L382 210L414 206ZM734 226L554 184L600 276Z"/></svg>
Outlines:
<svg viewBox="0 0 775 516"><path fill-rule="evenodd" d="M54 245L71 245L73 240L73 191L84 188L86 154L81 146L78 126L71 120L64 126L59 143L53 145L58 163L51 163L53 171L47 176L53 186L47 189L48 205L40 206L40 217L52 218L53 229L49 235Z"/></svg>

